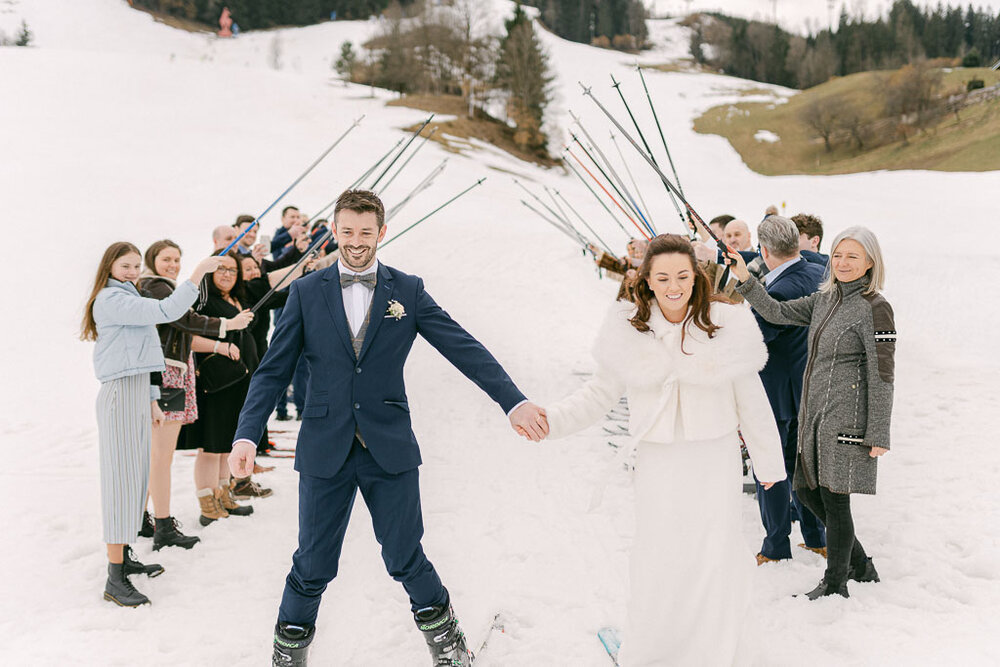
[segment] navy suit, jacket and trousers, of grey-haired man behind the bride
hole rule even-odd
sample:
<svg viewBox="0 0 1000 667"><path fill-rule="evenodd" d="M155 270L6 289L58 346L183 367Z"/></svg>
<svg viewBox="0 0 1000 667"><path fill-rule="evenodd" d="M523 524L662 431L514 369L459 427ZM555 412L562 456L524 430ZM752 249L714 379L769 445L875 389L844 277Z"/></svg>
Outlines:
<svg viewBox="0 0 1000 667"><path fill-rule="evenodd" d="M778 274L767 286L767 293L778 301L808 296L819 289L824 272L821 265L800 260ZM760 372L760 379L778 424L785 455L785 471L788 473L788 479L775 484L768 491L757 484L760 518L767 531L760 553L778 560L792 557L788 542L792 530L789 495L798 512L799 527L806 546L826 546L823 524L802 506L788 481L795 473L798 411L802 400L802 376L808 356L809 328L771 324L756 312L754 315L764 334L764 342L767 343L767 365Z"/></svg>

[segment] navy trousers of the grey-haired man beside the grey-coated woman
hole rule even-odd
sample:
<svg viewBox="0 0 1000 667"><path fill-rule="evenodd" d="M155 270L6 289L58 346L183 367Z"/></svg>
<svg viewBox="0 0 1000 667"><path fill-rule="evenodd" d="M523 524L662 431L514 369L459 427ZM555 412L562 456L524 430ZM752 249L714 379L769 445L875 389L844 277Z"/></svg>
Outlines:
<svg viewBox="0 0 1000 667"><path fill-rule="evenodd" d="M819 548L826 546L826 531L823 524L812 512L802 506L798 495L792 491L792 477L795 475L795 454L799 443L799 421L788 419L778 421L778 435L781 436L781 450L785 457L785 472L788 479L778 482L767 491L757 481L757 505L760 508L760 521L764 524L764 543L760 553L780 560L792 557L791 544L788 536L792 532L791 505L799 516L799 530L807 547ZM789 504L791 499L791 505Z"/></svg>

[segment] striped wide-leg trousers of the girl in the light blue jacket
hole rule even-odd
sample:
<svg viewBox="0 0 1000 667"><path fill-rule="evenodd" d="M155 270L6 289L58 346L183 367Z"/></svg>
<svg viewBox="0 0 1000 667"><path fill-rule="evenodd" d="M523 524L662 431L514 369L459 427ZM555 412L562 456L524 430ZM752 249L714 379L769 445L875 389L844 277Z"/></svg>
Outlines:
<svg viewBox="0 0 1000 667"><path fill-rule="evenodd" d="M149 404L149 373L105 382L97 394L106 544L129 544L142 524L153 437Z"/></svg>

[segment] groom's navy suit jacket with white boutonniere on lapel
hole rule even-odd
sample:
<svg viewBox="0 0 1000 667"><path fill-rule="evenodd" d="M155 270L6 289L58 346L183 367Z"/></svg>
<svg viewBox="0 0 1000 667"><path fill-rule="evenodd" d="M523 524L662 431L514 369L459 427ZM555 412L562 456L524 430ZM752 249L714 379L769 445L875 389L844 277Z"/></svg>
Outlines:
<svg viewBox="0 0 1000 667"><path fill-rule="evenodd" d="M388 314L392 301L404 310L398 319ZM499 362L434 302L420 278L384 264L379 265L371 319L356 358L335 264L292 283L271 346L251 380L234 440L260 439L304 353L311 373L295 469L333 477L350 453L356 429L386 472L416 468L420 450L410 426L403 365L417 334L504 412L524 400Z"/></svg>

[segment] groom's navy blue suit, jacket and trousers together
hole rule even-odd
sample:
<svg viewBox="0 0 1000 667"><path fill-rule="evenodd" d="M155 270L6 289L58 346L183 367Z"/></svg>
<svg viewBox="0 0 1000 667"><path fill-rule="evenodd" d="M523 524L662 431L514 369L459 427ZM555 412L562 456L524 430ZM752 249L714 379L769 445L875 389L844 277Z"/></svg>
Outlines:
<svg viewBox="0 0 1000 667"><path fill-rule="evenodd" d="M403 317L387 314L390 301L402 305ZM379 265L357 356L337 265L291 285L271 346L250 382L235 437L257 441L304 355L311 372L295 450L299 548L279 621L314 623L320 597L337 574L359 489L386 568L403 584L413 608L441 604L447 596L420 546L420 450L403 386L403 365L418 333L504 412L524 400L497 360L434 302L416 276Z"/></svg>

